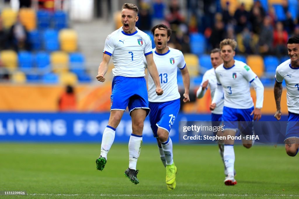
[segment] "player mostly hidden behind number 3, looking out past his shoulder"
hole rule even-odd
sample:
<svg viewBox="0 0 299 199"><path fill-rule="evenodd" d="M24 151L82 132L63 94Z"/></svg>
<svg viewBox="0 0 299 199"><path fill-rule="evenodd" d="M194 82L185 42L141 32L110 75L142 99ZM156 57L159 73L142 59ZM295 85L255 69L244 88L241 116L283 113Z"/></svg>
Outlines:
<svg viewBox="0 0 299 199"><path fill-rule="evenodd" d="M205 95L205 92L206 90L208 90L208 87L210 87L211 98L213 99L217 87L215 69L220 64L223 63L223 60L220 56L220 49L219 48L213 49L210 53L210 58L211 58L211 63L213 68L207 70L202 78L202 84L200 85L200 87L196 92L196 97L199 99ZM211 121L213 126L219 126L219 124L222 121L223 103L224 103L224 98L221 101L219 101L217 107L212 111ZM224 164L224 174L225 176L227 176L228 173L223 159L223 144L219 142L218 146L219 146L219 153Z"/></svg>

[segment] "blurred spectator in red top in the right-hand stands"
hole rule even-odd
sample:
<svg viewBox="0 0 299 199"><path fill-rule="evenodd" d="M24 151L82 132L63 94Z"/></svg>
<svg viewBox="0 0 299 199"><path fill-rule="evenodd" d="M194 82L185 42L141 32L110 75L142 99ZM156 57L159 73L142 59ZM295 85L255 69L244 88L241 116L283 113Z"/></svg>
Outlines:
<svg viewBox="0 0 299 199"><path fill-rule="evenodd" d="M276 28L273 32L273 47L277 57L286 55L287 48L286 42L288 40L288 33L283 30L282 22L278 21L276 23Z"/></svg>

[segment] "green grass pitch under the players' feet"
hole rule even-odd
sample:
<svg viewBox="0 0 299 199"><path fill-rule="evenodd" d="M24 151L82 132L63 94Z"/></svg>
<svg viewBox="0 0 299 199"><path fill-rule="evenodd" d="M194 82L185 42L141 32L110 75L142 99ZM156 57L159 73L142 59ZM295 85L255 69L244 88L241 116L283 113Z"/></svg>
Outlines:
<svg viewBox="0 0 299 199"><path fill-rule="evenodd" d="M123 174L128 167L127 144L112 145L102 172L97 171L95 163L99 153L100 144L1 143L0 190L25 190L30 198L299 196L299 157L286 155L283 145L255 145L251 149L236 145L235 186L223 183L223 163L216 145L174 145L178 173L173 191L167 190L156 145L142 146L138 185Z"/></svg>

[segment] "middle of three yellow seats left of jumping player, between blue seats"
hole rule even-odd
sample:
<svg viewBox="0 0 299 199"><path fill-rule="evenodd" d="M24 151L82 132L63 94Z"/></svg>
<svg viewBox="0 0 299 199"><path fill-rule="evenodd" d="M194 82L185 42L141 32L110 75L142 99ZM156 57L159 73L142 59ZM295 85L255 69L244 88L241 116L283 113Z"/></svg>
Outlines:
<svg viewBox="0 0 299 199"><path fill-rule="evenodd" d="M61 73L68 71L68 53L65 53L63 51L55 51L51 53L50 60L54 72Z"/></svg>

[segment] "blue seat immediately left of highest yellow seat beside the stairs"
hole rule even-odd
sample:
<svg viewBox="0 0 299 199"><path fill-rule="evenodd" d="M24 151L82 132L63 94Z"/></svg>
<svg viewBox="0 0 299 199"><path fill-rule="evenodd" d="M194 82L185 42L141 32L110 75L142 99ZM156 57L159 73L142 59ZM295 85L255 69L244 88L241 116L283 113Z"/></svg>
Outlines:
<svg viewBox="0 0 299 199"><path fill-rule="evenodd" d="M43 43L46 51L52 52L59 50L58 31L54 29L45 30Z"/></svg>

